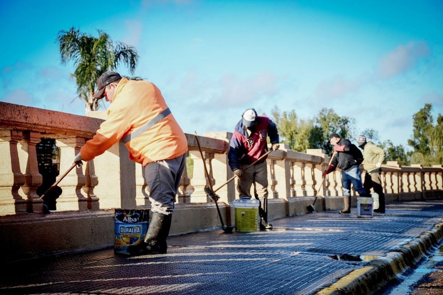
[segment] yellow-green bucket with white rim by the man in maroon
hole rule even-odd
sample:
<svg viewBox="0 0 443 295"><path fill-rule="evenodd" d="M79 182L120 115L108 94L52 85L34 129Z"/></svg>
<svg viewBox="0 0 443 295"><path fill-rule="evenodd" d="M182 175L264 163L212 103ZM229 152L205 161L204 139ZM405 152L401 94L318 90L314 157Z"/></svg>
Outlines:
<svg viewBox="0 0 443 295"><path fill-rule="evenodd" d="M233 204L235 208L235 230L257 231L260 201L249 197L241 197L234 200Z"/></svg>

